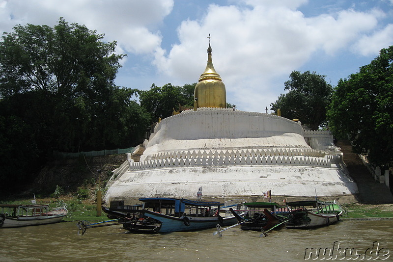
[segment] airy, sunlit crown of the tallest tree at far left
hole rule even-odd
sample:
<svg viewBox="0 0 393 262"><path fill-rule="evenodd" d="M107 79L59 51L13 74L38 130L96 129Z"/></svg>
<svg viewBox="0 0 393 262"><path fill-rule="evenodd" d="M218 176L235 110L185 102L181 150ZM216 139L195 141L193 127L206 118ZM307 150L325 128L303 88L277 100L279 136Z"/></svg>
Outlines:
<svg viewBox="0 0 393 262"><path fill-rule="evenodd" d="M103 37L62 18L54 28L15 26L0 44L0 95L40 90L75 98L112 85L123 55Z"/></svg>

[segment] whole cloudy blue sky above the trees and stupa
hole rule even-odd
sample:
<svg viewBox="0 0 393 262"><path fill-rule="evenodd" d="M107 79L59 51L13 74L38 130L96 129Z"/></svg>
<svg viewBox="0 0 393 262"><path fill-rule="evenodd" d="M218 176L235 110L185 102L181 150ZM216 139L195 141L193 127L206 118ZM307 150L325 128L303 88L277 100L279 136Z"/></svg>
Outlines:
<svg viewBox="0 0 393 262"><path fill-rule="evenodd" d="M197 82L210 34L226 101L253 112L293 71L336 86L393 45L393 0L0 0L0 32L60 17L116 41L115 84L140 90Z"/></svg>

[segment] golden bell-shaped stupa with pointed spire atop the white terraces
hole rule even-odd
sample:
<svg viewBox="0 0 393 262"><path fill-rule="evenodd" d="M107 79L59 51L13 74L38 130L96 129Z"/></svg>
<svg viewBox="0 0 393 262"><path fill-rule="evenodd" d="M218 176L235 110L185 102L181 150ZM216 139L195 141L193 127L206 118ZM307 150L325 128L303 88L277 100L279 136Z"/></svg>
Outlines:
<svg viewBox="0 0 393 262"><path fill-rule="evenodd" d="M195 86L194 92L194 110L198 107L226 107L226 91L225 84L221 81L221 77L214 69L212 62L213 50L207 49L208 58L205 72L199 77L199 81Z"/></svg>

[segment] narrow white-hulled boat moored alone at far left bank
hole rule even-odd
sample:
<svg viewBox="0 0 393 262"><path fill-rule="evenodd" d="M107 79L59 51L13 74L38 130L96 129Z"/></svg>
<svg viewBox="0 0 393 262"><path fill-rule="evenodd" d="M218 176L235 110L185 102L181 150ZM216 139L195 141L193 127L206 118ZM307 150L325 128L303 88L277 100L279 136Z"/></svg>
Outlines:
<svg viewBox="0 0 393 262"><path fill-rule="evenodd" d="M36 226L59 222L67 215L64 203L50 210L49 205L0 205L0 228Z"/></svg>

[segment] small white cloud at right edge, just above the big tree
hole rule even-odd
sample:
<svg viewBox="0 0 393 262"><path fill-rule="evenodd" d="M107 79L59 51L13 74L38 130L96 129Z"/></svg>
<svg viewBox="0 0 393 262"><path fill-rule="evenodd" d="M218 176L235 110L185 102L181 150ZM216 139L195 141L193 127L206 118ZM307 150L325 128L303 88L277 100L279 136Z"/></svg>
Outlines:
<svg viewBox="0 0 393 262"><path fill-rule="evenodd" d="M353 45L353 52L360 53L364 56L375 56L383 48L393 45L393 24L387 25L382 30L374 34L362 36L358 42Z"/></svg>

